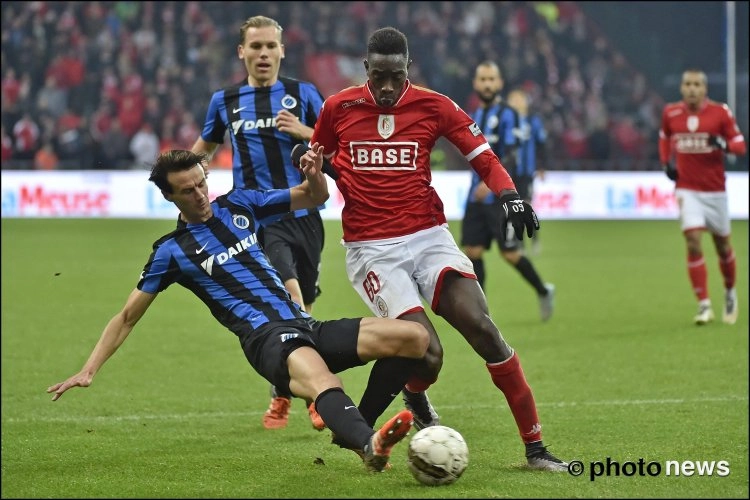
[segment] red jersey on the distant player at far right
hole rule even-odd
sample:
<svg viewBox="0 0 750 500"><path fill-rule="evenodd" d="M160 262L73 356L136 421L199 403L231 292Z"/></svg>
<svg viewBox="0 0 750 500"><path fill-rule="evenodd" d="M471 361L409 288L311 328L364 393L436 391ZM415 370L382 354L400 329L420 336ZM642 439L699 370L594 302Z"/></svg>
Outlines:
<svg viewBox="0 0 750 500"><path fill-rule="evenodd" d="M675 157L675 187L725 191L724 152L708 145L711 135L726 139L731 153L746 151L745 138L726 104L706 99L695 112L682 101L665 106L659 131L659 159L667 163Z"/></svg>

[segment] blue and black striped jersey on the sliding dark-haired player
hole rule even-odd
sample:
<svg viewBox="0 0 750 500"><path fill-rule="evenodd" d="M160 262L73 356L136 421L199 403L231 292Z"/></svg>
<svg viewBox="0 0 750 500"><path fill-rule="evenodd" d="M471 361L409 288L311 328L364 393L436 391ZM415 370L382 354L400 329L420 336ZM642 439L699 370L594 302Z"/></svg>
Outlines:
<svg viewBox="0 0 750 500"><path fill-rule="evenodd" d="M154 243L137 288L156 294L179 283L238 336L271 321L309 321L256 236L259 226L288 213L289 203L287 189L233 189L217 197L208 221L182 224Z"/></svg>

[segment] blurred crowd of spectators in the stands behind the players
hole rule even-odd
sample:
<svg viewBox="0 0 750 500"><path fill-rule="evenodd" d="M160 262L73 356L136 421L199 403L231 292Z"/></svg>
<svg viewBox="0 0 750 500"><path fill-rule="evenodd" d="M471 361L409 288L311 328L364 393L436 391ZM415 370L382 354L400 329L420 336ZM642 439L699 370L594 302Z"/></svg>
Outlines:
<svg viewBox="0 0 750 500"><path fill-rule="evenodd" d="M576 2L364 1L3 2L3 168L148 168L190 149L212 92L246 76L239 27L257 14L284 27L282 75L320 84L309 61L327 53L364 78L367 36L394 26L412 81L468 112L475 66L498 62L548 130L545 168L658 168L664 101Z"/></svg>

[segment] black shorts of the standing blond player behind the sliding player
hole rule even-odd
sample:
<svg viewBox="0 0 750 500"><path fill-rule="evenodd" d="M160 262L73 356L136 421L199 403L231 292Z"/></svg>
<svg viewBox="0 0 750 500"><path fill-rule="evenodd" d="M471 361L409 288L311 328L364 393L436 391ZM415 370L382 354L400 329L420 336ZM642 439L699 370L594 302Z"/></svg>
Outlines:
<svg viewBox="0 0 750 500"><path fill-rule="evenodd" d="M312 304L320 295L320 256L325 234L317 210L310 215L283 218L261 228L258 240L281 281L299 281L302 300Z"/></svg>

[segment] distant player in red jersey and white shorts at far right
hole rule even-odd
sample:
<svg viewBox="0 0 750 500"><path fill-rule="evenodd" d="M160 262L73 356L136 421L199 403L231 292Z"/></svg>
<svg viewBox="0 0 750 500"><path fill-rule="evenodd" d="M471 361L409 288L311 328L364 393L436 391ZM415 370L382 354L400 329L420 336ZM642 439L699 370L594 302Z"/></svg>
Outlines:
<svg viewBox="0 0 750 500"><path fill-rule="evenodd" d="M687 244L690 283L698 298L694 321L704 325L714 319L708 297L708 273L701 248L703 231L713 237L724 277L723 321L737 321L736 264L730 241L724 155L747 151L732 111L726 104L706 97L706 74L689 69L682 74L682 101L667 104L659 131L659 159L667 176L675 181L680 223ZM674 159L674 163L672 160Z"/></svg>

